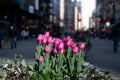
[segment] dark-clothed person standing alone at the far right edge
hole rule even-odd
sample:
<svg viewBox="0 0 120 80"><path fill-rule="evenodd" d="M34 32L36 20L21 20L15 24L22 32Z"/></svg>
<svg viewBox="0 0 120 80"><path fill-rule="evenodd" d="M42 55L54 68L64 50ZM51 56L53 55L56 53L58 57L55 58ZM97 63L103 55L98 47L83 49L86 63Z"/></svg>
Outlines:
<svg viewBox="0 0 120 80"><path fill-rule="evenodd" d="M120 32L119 28L117 28L119 25L116 24L112 27L112 40L113 40L113 51L118 52L118 46L119 46L119 40L120 40Z"/></svg>

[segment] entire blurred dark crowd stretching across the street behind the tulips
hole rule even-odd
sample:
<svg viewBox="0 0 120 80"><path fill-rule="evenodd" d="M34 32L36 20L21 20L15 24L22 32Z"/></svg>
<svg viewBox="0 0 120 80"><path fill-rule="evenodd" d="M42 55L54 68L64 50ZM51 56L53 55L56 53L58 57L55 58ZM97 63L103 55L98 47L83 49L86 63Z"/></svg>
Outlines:
<svg viewBox="0 0 120 80"><path fill-rule="evenodd" d="M100 38L115 41L114 38L117 37L117 43L114 42L114 44L119 44L120 29L115 29L117 28L116 26L100 27L99 29L90 28L87 31L71 30L71 32L68 32L69 27L60 27L59 24L52 23L42 23L40 25L35 25L34 27L23 25L21 29L18 29L15 25L10 25L6 30L0 27L0 49L5 41L8 41L10 48L13 49L17 47L17 40L36 38L38 34L44 34L46 31L49 31L53 37L64 38L69 35L78 41L84 39L81 37L85 37L85 39Z"/></svg>

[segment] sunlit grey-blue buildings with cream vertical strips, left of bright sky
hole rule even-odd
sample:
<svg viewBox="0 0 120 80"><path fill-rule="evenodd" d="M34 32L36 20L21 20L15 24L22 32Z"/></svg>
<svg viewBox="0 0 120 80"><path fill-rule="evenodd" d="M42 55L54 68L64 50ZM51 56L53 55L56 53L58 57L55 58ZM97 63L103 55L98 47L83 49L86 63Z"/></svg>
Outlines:
<svg viewBox="0 0 120 80"><path fill-rule="evenodd" d="M73 30L78 30L81 22L81 2L76 0L53 0L54 23L62 26L73 26ZM77 27L77 28L75 28ZM68 28L67 28L68 29Z"/></svg>

